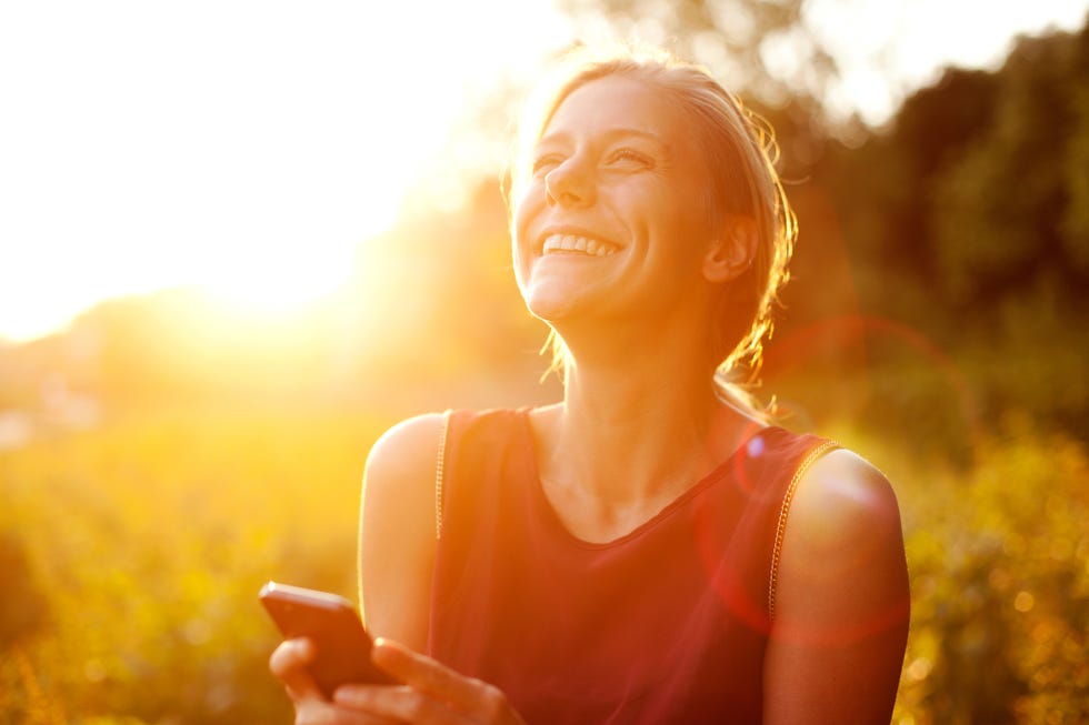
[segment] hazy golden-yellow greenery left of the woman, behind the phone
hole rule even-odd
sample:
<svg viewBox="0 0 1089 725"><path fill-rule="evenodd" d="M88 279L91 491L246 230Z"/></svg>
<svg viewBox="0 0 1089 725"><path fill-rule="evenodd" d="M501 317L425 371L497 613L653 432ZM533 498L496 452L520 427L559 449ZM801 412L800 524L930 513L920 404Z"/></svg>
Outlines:
<svg viewBox="0 0 1089 725"><path fill-rule="evenodd" d="M3 722L288 722L257 592L278 578L353 598L358 483L381 427L159 414L0 455L0 531L47 615L0 656ZM29 591L6 587L6 607Z"/></svg>

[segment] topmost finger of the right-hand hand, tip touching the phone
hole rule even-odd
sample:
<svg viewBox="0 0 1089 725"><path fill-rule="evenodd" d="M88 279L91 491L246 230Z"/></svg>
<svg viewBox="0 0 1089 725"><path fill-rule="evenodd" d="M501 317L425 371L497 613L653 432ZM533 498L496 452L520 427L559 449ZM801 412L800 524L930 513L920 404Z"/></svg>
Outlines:
<svg viewBox="0 0 1089 725"><path fill-rule="evenodd" d="M502 693L391 640L379 638L371 652L374 664L401 682L472 715L492 717L503 708Z"/></svg>

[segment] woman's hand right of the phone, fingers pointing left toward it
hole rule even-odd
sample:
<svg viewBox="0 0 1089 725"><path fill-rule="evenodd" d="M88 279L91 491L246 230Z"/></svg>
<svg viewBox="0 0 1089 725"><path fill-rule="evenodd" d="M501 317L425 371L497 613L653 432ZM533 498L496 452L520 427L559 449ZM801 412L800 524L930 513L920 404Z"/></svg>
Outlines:
<svg viewBox="0 0 1089 725"><path fill-rule="evenodd" d="M404 685L344 685L333 696L337 705L406 723L526 723L494 685L466 677L402 644L377 640L371 659Z"/></svg>

